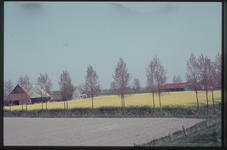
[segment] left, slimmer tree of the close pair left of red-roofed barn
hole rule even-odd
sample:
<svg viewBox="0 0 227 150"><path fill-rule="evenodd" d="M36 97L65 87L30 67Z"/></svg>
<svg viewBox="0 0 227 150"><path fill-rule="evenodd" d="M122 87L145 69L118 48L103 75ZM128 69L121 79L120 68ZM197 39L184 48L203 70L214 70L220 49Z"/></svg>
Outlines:
<svg viewBox="0 0 227 150"><path fill-rule="evenodd" d="M149 92L153 95L153 111L155 112L155 101L154 101L154 95L158 92L157 90L157 84L155 82L155 64L153 60L151 60L150 64L146 68L146 75L147 75L147 81L146 86Z"/></svg>

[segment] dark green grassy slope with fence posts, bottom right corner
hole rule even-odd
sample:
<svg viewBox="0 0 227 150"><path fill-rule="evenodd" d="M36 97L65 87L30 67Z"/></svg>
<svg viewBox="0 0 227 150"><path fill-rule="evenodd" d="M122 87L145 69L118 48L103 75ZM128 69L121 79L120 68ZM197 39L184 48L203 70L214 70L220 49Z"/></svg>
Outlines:
<svg viewBox="0 0 227 150"><path fill-rule="evenodd" d="M194 130L195 126L187 129L187 136L183 131L177 131L169 137L162 137L150 141L148 143L138 145L142 147L221 147L221 121L212 123L210 126L205 125L209 120L197 124L197 131ZM200 128L198 128L200 127ZM155 144L155 145L154 145Z"/></svg>

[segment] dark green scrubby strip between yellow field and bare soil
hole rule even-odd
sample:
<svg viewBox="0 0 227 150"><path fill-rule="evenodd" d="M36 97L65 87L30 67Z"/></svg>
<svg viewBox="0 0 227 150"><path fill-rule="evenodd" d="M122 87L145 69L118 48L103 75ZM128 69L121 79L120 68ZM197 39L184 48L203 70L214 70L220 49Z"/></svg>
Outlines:
<svg viewBox="0 0 227 150"><path fill-rule="evenodd" d="M209 106L209 115L207 115L206 106L200 107L197 111L197 107L163 107L162 115L160 109L149 106L144 107L127 107L126 113L123 115L121 107L101 107L94 109L91 108L73 108L73 109L47 109L47 110L32 110L32 111L9 111L4 110L4 117L109 117L109 118L135 118L135 117L177 117L177 118L212 118L221 112L219 105Z"/></svg>

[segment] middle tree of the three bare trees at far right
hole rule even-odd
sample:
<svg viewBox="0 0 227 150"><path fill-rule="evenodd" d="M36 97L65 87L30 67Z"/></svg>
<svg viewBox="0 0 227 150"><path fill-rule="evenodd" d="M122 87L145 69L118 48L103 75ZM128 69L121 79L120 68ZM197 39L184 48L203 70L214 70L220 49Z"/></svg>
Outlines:
<svg viewBox="0 0 227 150"><path fill-rule="evenodd" d="M208 56L199 56L198 58L199 70L200 70L200 77L201 77L201 85L203 86L203 90L206 92L206 99L207 99L207 115L209 114L209 105L208 105L208 92L211 87L210 79L212 77L212 62Z"/></svg>

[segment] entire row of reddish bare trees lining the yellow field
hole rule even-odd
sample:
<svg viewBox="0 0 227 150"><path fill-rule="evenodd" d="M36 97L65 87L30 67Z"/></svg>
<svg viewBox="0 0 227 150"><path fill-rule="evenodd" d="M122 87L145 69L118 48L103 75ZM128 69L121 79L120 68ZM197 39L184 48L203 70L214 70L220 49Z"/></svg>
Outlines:
<svg viewBox="0 0 227 150"><path fill-rule="evenodd" d="M191 84L193 90L196 92L197 99L197 108L199 110L199 102L198 102L198 91L204 90L206 92L207 99L207 114L208 114L208 92L212 91L212 99L214 106L214 98L213 98L213 90L217 88L221 88L221 56L216 56L214 62L211 61L208 56L201 56L198 59L192 53L189 60L186 64L187 72L186 72L186 80ZM159 107L160 113L162 115L162 105L161 105L161 95L165 92L165 85L167 81L166 73L167 70L164 69L164 66L161 65L160 60L157 56L154 56L148 67L145 70L147 81L146 87L153 96L153 111L155 112L155 101L154 95L157 94L159 96ZM125 97L131 94L131 84L130 81L132 79L131 74L128 71L126 63L122 58L117 62L117 66L115 68L114 74L112 75L113 81L111 82L111 90L115 92L121 98L121 105L123 114L125 114ZM99 76L94 71L91 65L87 68L87 75L85 76L85 83L82 84L82 89L85 91L89 97L92 98L92 110L94 107L93 98L97 96L101 92L101 85L98 82ZM11 91L11 81L9 80L7 84L5 84L6 91ZM182 82L180 75L177 77L174 75L173 83ZM37 83L42 86L49 94L52 88L51 80L48 75L42 75L40 73L40 77L37 79ZM26 75L25 77L20 76L18 79L18 84L21 85L29 85L29 78ZM71 82L71 77L67 70L63 70L60 76L60 80L58 81L58 85L60 88L61 97L64 100L64 109L68 108L65 104L65 101L71 98L74 87ZM28 87L29 88L29 87ZM140 89L140 81L138 78L134 79L134 89ZM7 92L6 92L7 93Z"/></svg>

